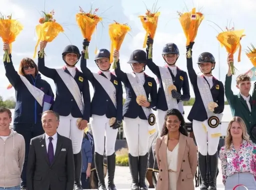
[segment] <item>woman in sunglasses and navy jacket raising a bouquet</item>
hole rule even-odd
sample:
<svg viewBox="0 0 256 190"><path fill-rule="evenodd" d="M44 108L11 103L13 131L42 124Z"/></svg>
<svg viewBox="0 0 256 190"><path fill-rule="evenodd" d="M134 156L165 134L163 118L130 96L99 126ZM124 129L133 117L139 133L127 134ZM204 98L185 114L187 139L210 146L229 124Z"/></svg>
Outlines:
<svg viewBox="0 0 256 190"><path fill-rule="evenodd" d="M9 50L9 45L4 44L3 50ZM29 92L19 75L24 76L30 84L54 98L49 83L41 79L34 61L30 58L23 58L19 64L18 72L14 69L9 54L10 62L3 62L5 76L15 89L16 105L14 110L13 129L21 134L25 140L25 161L21 173L21 189L26 188L26 164L28 158L30 140L44 133L41 124L42 107Z"/></svg>

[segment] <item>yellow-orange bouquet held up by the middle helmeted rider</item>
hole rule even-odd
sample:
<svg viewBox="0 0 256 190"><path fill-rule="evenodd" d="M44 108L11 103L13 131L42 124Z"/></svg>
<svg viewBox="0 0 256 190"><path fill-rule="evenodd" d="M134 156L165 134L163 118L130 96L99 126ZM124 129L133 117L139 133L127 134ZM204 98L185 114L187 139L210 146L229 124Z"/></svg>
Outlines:
<svg viewBox="0 0 256 190"><path fill-rule="evenodd" d="M116 21L108 26L108 33L111 40L110 63L113 61L113 69L116 68L116 60L115 57L113 58L113 50L116 49L119 51L123 39L128 31L130 31L130 27L127 24L120 24Z"/></svg>

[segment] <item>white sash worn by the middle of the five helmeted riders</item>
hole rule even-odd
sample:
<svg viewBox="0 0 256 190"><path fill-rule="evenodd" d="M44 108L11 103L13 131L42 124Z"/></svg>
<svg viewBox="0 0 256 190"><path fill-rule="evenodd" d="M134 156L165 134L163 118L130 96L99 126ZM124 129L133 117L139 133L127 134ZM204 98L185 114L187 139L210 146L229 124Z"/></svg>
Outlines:
<svg viewBox="0 0 256 190"><path fill-rule="evenodd" d="M143 85L139 82L136 75L134 73L126 73L126 74L127 74L127 78L129 80L130 85L131 85L134 93L136 94L136 96L142 95L146 98L145 89L144 89ZM146 108L144 106L141 106L141 107L144 111L146 118L148 119L148 116L152 113L151 109Z"/></svg>

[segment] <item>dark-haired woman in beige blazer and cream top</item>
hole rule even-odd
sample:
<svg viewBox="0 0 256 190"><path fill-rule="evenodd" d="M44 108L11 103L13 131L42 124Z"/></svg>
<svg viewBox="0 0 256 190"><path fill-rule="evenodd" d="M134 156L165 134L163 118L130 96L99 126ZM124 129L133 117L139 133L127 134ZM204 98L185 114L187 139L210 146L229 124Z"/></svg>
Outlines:
<svg viewBox="0 0 256 190"><path fill-rule="evenodd" d="M184 126L184 118L177 109L167 111L155 144L159 168L156 190L194 190L197 152Z"/></svg>

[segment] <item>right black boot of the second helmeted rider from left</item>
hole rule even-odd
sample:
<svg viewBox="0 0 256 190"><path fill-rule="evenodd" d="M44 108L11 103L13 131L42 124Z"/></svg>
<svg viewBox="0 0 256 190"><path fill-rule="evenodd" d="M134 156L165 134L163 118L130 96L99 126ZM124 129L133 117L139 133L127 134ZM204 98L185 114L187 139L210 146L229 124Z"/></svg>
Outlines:
<svg viewBox="0 0 256 190"><path fill-rule="evenodd" d="M114 186L114 171L115 171L115 153L106 157L107 160L107 175L108 175L108 190L116 190Z"/></svg>

